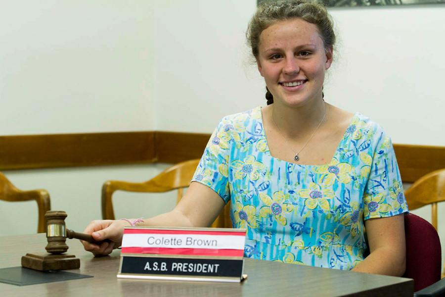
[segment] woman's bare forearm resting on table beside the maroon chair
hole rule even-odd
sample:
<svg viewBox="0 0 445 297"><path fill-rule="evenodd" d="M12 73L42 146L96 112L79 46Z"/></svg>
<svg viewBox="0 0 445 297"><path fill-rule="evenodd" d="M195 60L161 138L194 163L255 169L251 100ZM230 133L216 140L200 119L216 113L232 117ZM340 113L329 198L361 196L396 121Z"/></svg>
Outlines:
<svg viewBox="0 0 445 297"><path fill-rule="evenodd" d="M357 264L352 271L402 276L405 272L404 252L401 253L389 247L377 248Z"/></svg>

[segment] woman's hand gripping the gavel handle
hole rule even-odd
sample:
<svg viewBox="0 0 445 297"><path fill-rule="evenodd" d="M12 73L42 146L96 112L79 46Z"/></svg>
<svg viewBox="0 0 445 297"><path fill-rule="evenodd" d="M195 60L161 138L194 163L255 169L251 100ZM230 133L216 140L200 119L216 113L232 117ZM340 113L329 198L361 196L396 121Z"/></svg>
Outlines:
<svg viewBox="0 0 445 297"><path fill-rule="evenodd" d="M84 233L91 234L92 238L97 241L107 239L100 246L81 241L85 250L94 254L94 256L106 256L113 251L114 248L120 247L122 244L122 236L124 227L130 226L130 223L122 220L94 220L88 224Z"/></svg>

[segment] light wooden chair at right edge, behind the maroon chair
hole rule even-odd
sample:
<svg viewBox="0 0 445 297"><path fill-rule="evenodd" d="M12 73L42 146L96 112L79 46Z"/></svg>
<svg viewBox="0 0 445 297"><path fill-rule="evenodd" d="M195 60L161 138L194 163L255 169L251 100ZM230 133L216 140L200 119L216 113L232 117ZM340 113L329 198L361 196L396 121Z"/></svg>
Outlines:
<svg viewBox="0 0 445 297"><path fill-rule="evenodd" d="M405 191L405 198L410 210L431 204L431 224L438 230L437 203L445 201L445 169L419 178ZM445 265L442 277L445 277Z"/></svg>

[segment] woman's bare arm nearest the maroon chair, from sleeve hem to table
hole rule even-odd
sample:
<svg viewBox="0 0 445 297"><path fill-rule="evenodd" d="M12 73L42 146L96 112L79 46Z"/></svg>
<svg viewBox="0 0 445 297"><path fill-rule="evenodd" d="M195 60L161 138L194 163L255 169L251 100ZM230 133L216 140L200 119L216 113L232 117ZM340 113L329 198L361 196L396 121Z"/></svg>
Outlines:
<svg viewBox="0 0 445 297"><path fill-rule="evenodd" d="M403 214L365 222L370 254L352 271L401 276L405 272Z"/></svg>

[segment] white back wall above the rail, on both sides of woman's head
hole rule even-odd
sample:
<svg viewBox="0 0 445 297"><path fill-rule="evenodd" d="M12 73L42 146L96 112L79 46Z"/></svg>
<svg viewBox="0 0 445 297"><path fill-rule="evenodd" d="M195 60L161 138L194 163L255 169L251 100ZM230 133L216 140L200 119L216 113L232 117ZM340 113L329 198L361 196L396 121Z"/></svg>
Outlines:
<svg viewBox="0 0 445 297"><path fill-rule="evenodd" d="M255 0L177 3L155 13L156 128L210 133L224 115L265 105L244 37ZM339 44L326 101L370 116L395 143L445 146L445 5L330 12Z"/></svg>

